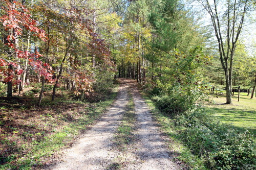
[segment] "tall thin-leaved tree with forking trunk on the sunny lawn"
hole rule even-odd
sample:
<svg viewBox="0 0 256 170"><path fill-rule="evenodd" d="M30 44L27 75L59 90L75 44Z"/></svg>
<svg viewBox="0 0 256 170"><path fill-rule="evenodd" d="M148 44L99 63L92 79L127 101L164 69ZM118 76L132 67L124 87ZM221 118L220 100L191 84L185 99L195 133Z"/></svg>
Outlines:
<svg viewBox="0 0 256 170"><path fill-rule="evenodd" d="M220 61L225 74L226 104L231 104L234 52L236 51L237 42L244 26L244 20L250 10L252 1L227 0L223 4L218 4L216 0L212 4L208 0L198 0L198 2L210 15L211 24L215 30ZM223 16L221 16L219 8L226 10ZM226 26L225 29L222 29L224 23Z"/></svg>

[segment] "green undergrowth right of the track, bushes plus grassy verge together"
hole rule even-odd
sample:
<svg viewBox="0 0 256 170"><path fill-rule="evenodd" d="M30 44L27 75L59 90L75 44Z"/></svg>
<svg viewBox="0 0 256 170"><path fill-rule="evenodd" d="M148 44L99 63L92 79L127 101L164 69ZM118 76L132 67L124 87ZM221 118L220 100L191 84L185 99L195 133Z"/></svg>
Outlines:
<svg viewBox="0 0 256 170"><path fill-rule="evenodd" d="M192 169L255 169L255 138L238 131L177 95L145 96L170 149ZM183 107L184 106L184 107Z"/></svg>

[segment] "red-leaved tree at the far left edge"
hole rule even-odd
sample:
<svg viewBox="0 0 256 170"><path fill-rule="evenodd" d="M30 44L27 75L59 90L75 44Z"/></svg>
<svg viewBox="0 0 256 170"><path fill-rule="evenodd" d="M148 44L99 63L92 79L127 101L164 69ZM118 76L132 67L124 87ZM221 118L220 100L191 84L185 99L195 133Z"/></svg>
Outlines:
<svg viewBox="0 0 256 170"><path fill-rule="evenodd" d="M36 20L32 19L29 10L24 5L16 1L9 2L7 0L3 3L5 14L0 18L0 21L3 22L5 29L5 45L8 46L6 49L8 55L0 59L0 67L2 67L2 75L6 77L4 82L7 82L8 85L7 98L11 99L13 84L22 82L20 75L23 74L24 70L20 66L22 64L21 59L27 59L37 74L49 81L52 81L52 74L51 67L39 60L42 55L37 50L34 53L23 51L18 45L18 40L26 30L33 32L34 36L46 41L45 31L36 26Z"/></svg>

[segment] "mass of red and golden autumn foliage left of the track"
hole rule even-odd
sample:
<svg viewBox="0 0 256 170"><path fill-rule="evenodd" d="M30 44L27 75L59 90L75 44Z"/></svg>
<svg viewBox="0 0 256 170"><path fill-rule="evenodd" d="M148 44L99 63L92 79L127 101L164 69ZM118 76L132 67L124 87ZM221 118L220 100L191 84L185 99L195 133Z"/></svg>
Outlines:
<svg viewBox="0 0 256 170"><path fill-rule="evenodd" d="M80 95L93 91L95 71L114 71L108 44L94 32L95 23L90 20L93 10L76 6L62 10L65 12L54 12L44 4L29 9L17 1L3 1L3 82L25 86L22 76L25 80L26 71L33 72L39 82L43 81L42 90L45 81L54 83L53 101L61 80ZM36 15L41 17L36 20Z"/></svg>

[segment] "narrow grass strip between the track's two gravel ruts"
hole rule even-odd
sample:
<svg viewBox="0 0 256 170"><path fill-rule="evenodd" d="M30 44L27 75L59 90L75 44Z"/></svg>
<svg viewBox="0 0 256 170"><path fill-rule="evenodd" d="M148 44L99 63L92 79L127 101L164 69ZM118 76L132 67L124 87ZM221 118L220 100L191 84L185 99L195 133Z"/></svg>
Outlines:
<svg viewBox="0 0 256 170"><path fill-rule="evenodd" d="M132 132L135 127L135 122L135 104L131 93L129 93L129 102L125 108L121 124L118 126L115 135L115 145L118 150L125 151L127 149L127 145L134 141L134 135Z"/></svg>

